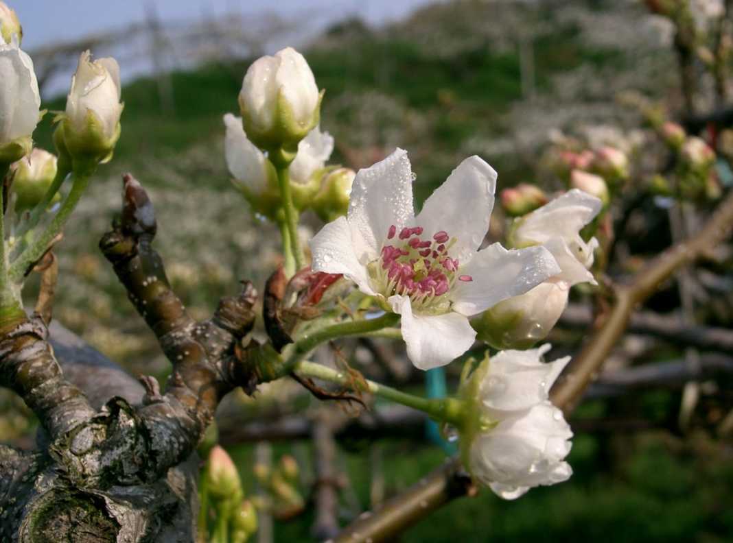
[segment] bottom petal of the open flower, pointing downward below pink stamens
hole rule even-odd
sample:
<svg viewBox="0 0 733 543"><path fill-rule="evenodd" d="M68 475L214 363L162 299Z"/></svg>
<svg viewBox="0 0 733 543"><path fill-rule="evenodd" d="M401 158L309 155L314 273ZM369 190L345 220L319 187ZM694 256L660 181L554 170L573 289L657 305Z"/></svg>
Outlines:
<svg viewBox="0 0 733 543"><path fill-rule="evenodd" d="M402 339L410 361L420 370L444 366L474 344L476 331L463 315L415 315L407 296L391 296L388 302L402 315Z"/></svg>

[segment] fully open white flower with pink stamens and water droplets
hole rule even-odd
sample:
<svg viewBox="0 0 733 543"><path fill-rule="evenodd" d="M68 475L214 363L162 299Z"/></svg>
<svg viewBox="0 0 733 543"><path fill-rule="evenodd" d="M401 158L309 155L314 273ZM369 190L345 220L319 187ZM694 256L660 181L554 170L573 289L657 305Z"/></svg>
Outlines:
<svg viewBox="0 0 733 543"><path fill-rule="evenodd" d="M469 157L413 211L413 173L397 149L356 174L347 217L311 241L317 272L344 274L402 315L402 337L421 370L448 364L474 342L468 316L560 272L544 247L478 251L489 227L496 171Z"/></svg>

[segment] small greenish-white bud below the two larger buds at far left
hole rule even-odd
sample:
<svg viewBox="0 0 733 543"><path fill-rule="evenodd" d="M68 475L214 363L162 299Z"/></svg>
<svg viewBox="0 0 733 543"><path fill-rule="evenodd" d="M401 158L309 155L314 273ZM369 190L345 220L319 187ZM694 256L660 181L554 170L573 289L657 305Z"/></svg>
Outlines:
<svg viewBox="0 0 733 543"><path fill-rule="evenodd" d="M27 157L15 162L12 170L15 211L22 213L26 209L33 209L43 200L56 177L56 155L35 148ZM59 198L56 194L56 200Z"/></svg>

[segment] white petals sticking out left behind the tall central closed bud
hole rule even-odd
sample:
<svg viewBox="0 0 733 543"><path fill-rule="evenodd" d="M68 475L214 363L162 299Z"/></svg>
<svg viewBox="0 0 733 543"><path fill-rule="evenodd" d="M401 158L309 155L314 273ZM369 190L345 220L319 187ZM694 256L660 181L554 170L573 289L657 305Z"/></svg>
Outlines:
<svg viewBox="0 0 733 543"><path fill-rule="evenodd" d="M242 127L242 118L232 113L224 115L226 136L224 154L226 166L237 188L251 195L261 195L269 187L270 168L265 154L248 140Z"/></svg>

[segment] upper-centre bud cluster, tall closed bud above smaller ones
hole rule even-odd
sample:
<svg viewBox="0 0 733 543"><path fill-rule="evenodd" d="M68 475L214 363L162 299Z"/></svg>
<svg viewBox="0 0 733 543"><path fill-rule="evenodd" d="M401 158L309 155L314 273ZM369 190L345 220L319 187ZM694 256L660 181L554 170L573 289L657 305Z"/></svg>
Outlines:
<svg viewBox="0 0 733 543"><path fill-rule="evenodd" d="M224 116L232 182L258 214L275 220L282 201L276 168L289 171L298 210L323 220L345 214L355 173L326 167L334 138L322 132L319 92L301 53L285 48L249 67L239 94L241 117Z"/></svg>

